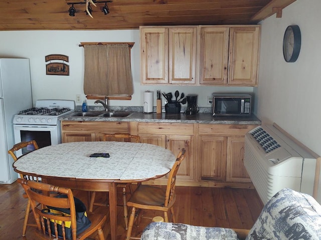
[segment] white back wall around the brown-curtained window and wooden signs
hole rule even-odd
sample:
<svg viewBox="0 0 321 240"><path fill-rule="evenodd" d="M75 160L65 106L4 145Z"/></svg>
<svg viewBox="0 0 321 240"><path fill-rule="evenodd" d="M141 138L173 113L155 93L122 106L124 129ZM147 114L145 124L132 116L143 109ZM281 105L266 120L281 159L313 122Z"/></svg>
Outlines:
<svg viewBox="0 0 321 240"><path fill-rule="evenodd" d="M193 87L193 86L155 86L140 85L140 44L139 30L35 30L0 31L0 57L27 57L31 63L33 101L37 99L76 100L76 94L83 93L84 49L80 42L86 41L125 41L135 42L131 50L131 66L134 81L132 100L111 100L110 105L142 106L145 90L173 92L179 90L187 94L198 94L199 106L206 104L212 92L252 92L253 87ZM46 75L45 56L64 54L69 56L70 75ZM55 61L53 61L55 62ZM174 95L174 94L173 94ZM156 94L154 93L154 98ZM93 105L94 100L88 100ZM154 106L156 100L154 100ZM164 101L163 101L164 105Z"/></svg>

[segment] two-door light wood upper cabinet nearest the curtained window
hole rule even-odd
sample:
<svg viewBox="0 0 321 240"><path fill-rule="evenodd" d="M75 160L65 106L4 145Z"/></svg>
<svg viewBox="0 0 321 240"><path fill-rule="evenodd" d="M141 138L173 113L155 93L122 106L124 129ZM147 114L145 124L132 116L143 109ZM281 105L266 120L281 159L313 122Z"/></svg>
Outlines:
<svg viewBox="0 0 321 240"><path fill-rule="evenodd" d="M141 83L196 83L196 26L140 26Z"/></svg>

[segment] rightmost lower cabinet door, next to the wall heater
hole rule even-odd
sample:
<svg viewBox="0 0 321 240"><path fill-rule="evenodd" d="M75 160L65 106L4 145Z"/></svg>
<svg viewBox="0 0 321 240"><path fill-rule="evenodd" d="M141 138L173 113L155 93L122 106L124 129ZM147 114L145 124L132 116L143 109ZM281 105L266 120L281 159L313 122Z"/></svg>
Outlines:
<svg viewBox="0 0 321 240"><path fill-rule="evenodd" d="M244 137L228 137L226 181L251 182L244 166Z"/></svg>

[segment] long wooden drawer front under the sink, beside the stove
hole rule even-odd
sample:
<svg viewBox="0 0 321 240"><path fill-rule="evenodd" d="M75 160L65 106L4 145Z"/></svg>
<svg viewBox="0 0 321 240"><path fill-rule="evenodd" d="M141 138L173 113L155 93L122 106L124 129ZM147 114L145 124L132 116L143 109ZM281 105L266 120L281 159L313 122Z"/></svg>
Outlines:
<svg viewBox="0 0 321 240"><path fill-rule="evenodd" d="M62 132L128 132L126 121L62 121Z"/></svg>

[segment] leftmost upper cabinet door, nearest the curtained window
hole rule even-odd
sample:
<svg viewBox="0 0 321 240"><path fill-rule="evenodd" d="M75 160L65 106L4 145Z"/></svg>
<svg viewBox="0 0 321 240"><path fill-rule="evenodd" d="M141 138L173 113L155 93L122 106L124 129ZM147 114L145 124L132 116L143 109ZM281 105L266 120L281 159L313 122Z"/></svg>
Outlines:
<svg viewBox="0 0 321 240"><path fill-rule="evenodd" d="M140 27L141 82L168 83L168 28Z"/></svg>

